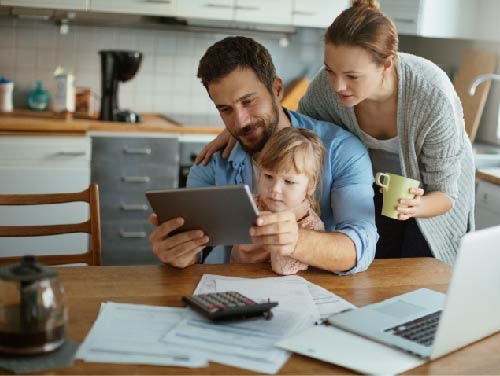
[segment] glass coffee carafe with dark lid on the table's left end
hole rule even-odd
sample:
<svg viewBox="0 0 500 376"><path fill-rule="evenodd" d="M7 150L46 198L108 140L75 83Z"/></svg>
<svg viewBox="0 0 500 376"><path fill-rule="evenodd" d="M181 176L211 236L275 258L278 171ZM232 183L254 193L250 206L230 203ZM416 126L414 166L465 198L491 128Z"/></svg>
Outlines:
<svg viewBox="0 0 500 376"><path fill-rule="evenodd" d="M0 268L0 353L31 355L64 343L68 312L57 273L33 256Z"/></svg>

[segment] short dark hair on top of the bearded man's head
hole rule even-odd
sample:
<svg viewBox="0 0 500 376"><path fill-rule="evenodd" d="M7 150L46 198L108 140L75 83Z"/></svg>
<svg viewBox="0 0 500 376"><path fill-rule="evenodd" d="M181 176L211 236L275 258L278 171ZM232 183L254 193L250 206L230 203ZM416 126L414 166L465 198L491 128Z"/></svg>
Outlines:
<svg viewBox="0 0 500 376"><path fill-rule="evenodd" d="M269 51L252 38L227 37L208 48L198 64L198 78L208 86L238 68L250 68L272 93L276 69Z"/></svg>

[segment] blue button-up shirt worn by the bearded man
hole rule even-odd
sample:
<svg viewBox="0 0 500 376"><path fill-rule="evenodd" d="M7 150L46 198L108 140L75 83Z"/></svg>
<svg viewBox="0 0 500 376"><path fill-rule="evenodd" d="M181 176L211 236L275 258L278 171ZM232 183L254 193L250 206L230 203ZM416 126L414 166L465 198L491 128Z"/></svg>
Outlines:
<svg viewBox="0 0 500 376"><path fill-rule="evenodd" d="M375 257L378 240L373 206L372 165L364 145L339 126L285 110L292 127L306 128L318 135L326 149L319 198L321 220L326 231L347 235L355 244L357 264L352 274L368 268ZM195 165L188 187L247 184L253 191L252 158L237 143L228 159L215 153L207 166Z"/></svg>

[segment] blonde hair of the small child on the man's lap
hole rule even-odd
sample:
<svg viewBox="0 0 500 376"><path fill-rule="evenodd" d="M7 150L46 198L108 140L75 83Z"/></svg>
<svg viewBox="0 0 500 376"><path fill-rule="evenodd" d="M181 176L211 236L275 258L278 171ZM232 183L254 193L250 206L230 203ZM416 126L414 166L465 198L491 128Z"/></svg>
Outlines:
<svg viewBox="0 0 500 376"><path fill-rule="evenodd" d="M309 179L309 188L316 189L321 179L325 147L316 134L303 128L287 127L273 134L257 157L257 167L273 172L293 171ZM313 194L307 197L319 213Z"/></svg>

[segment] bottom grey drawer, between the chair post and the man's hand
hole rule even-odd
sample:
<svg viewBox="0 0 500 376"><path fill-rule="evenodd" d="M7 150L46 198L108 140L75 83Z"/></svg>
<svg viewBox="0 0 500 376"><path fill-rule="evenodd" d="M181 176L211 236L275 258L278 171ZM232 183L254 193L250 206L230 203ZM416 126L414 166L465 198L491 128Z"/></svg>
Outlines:
<svg viewBox="0 0 500 376"><path fill-rule="evenodd" d="M102 226L104 265L160 264L153 254L149 235L154 227L148 221L111 221Z"/></svg>

